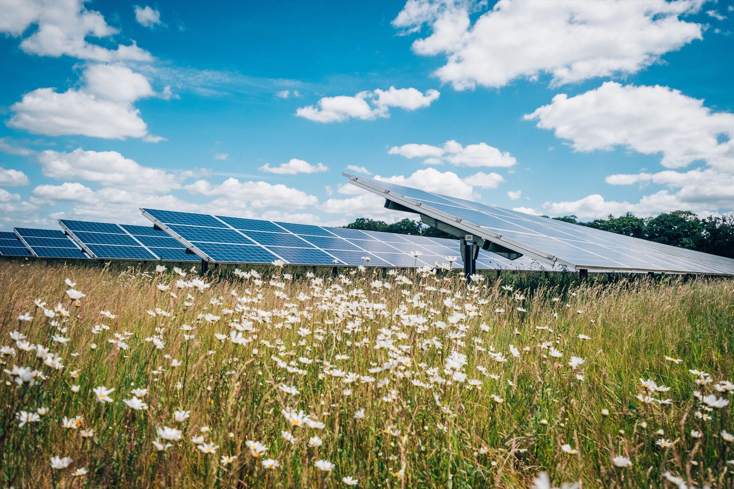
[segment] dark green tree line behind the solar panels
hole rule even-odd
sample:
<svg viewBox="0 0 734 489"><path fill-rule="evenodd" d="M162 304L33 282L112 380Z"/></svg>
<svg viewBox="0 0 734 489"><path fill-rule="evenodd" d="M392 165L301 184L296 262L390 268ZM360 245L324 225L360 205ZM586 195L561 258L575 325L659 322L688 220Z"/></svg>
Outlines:
<svg viewBox="0 0 734 489"><path fill-rule="evenodd" d="M594 219L588 222L579 221L576 216L563 216L553 219L670 246L679 246L680 248L734 258L734 214L700 218L690 210L674 210L652 218L641 218L634 216L633 213L626 213L619 217L610 214L606 219ZM401 235L454 238L454 236L445 232L408 218L401 219L401 221L393 224L368 218L358 218L345 227L366 231L394 232Z"/></svg>

